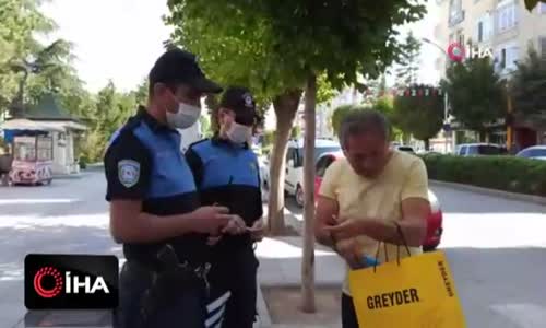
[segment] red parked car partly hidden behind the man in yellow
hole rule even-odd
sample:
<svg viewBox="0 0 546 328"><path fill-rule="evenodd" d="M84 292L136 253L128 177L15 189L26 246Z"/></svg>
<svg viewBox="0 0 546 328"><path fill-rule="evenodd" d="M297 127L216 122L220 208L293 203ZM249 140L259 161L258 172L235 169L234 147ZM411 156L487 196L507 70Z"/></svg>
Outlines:
<svg viewBox="0 0 546 328"><path fill-rule="evenodd" d="M343 152L327 152L323 153L316 165L316 176L314 176L314 194L318 195L320 185L322 183L322 177L327 172L327 168L339 159L343 159ZM434 250L440 245L441 236L443 234L443 213L440 207L438 198L428 189L428 201L430 202L430 213L427 218L427 236L423 242L424 250Z"/></svg>

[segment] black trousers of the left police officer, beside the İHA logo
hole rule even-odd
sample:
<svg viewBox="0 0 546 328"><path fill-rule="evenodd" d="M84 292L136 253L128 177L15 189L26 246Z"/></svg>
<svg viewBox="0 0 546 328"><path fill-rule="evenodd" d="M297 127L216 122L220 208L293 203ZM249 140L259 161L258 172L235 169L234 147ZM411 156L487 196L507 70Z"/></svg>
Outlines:
<svg viewBox="0 0 546 328"><path fill-rule="evenodd" d="M201 284L188 285L168 306L162 306L145 321L142 298L151 286L152 274L142 267L126 262L119 277L119 307L115 313L116 328L204 328L205 291Z"/></svg>

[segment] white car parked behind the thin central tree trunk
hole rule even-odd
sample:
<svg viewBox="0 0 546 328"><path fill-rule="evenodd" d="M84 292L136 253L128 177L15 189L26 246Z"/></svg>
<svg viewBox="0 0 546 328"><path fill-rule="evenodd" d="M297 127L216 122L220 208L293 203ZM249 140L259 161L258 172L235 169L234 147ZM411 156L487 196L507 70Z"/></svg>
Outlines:
<svg viewBox="0 0 546 328"><path fill-rule="evenodd" d="M328 139L314 141L314 163L322 154L341 151L339 142ZM304 140L288 141L286 152L286 175L284 178L284 190L289 196L295 196L296 203L304 207Z"/></svg>

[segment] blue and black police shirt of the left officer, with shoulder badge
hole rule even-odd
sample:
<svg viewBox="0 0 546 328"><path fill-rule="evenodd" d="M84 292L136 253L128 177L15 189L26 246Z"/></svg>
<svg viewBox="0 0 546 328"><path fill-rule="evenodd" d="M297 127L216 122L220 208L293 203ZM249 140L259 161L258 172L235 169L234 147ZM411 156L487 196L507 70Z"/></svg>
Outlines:
<svg viewBox="0 0 546 328"><path fill-rule="evenodd" d="M164 216L189 213L199 207L192 173L180 151L177 130L159 124L144 108L110 139L104 163L106 200L142 200L142 211ZM165 243L180 259L201 262L206 236L187 234L163 243L124 244L128 260L149 260Z"/></svg>

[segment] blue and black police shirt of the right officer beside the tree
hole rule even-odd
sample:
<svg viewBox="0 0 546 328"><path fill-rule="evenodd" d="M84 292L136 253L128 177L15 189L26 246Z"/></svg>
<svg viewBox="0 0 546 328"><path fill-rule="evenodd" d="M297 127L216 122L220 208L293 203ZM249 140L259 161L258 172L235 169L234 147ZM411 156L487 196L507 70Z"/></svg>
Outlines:
<svg viewBox="0 0 546 328"><path fill-rule="evenodd" d="M263 215L258 157L248 145L214 137L191 144L186 159L203 206L225 206L248 226ZM219 245L218 249L251 245L250 235L225 236Z"/></svg>

